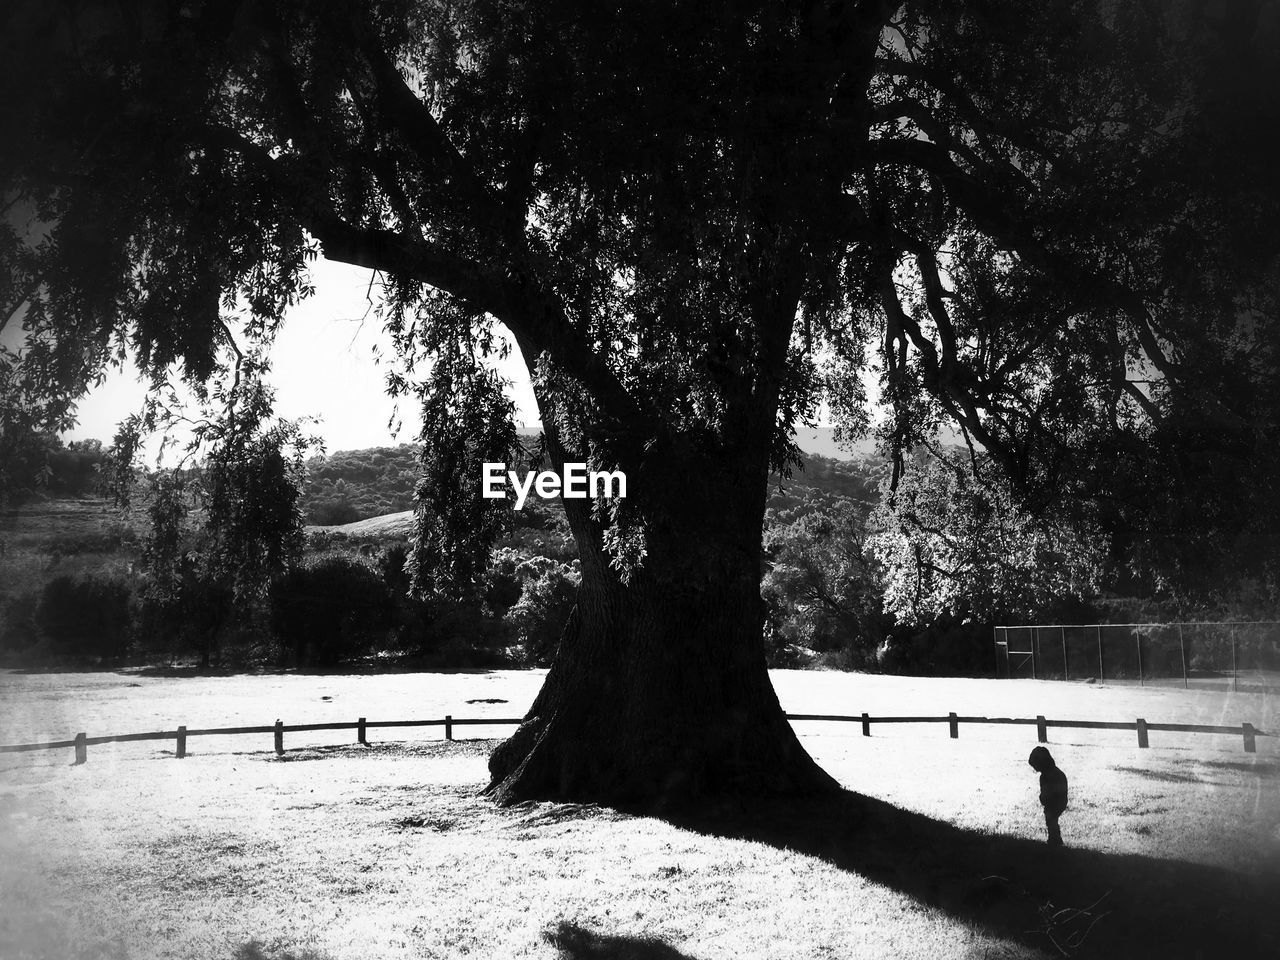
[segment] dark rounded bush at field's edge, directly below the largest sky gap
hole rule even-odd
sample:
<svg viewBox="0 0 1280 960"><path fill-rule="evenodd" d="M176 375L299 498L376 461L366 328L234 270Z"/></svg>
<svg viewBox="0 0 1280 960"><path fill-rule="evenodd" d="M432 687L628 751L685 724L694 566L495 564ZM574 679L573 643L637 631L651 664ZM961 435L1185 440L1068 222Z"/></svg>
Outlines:
<svg viewBox="0 0 1280 960"><path fill-rule="evenodd" d="M385 639L393 603L378 571L333 553L306 561L271 585L271 628L282 660L332 667Z"/></svg>

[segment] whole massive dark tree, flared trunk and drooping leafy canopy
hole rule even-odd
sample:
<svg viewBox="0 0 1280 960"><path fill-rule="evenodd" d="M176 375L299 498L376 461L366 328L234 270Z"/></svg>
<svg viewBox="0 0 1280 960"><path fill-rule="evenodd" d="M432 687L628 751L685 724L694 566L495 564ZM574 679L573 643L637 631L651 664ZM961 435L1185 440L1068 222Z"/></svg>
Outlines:
<svg viewBox="0 0 1280 960"><path fill-rule="evenodd" d="M8 4L0 178L35 227L4 244L27 328L5 406L65 415L113 347L206 378L229 326L269 339L311 257L371 268L404 353L433 357L416 573L465 586L500 526L479 499L511 448L499 324L552 460L621 468L628 497L564 502L577 607L493 794L829 788L762 646L794 425L824 389L861 422L878 357L892 451L948 420L1032 509L1106 488L1111 451L1140 474L1178 403L1213 397L1249 449L1268 394L1213 389L1274 370L1249 140L1275 119L1249 102L1274 14Z"/></svg>

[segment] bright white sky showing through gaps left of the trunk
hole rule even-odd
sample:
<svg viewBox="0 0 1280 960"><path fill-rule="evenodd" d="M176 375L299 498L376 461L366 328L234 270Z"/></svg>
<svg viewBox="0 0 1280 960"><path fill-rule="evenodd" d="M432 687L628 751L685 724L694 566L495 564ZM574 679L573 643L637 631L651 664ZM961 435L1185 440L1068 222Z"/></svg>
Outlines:
<svg viewBox="0 0 1280 960"><path fill-rule="evenodd" d="M412 398L399 401L399 433L388 426L397 402L385 390L388 361L380 365L375 352L390 357L392 349L369 300L378 296L376 285L370 289L370 275L364 268L317 260L311 271L315 296L289 311L271 349L269 379L276 388L276 412L289 419L320 417L314 433L329 452L416 439ZM536 426L538 404L518 349L500 367L513 384L517 421ZM81 401L78 422L65 439L110 442L115 425L137 411L145 396L146 385L136 371L113 371Z"/></svg>

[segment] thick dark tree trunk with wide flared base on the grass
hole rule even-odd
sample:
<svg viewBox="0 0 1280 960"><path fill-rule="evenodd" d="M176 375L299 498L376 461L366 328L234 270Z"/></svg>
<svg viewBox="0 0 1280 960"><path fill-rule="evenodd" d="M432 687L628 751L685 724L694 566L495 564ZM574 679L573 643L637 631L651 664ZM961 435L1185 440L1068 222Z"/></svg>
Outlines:
<svg viewBox="0 0 1280 960"><path fill-rule="evenodd" d="M735 489L721 485L732 483L723 470L699 475L704 463L676 461L681 488L645 485L655 518L644 566L626 582L584 502L564 502L582 585L541 691L489 760L488 792L499 803L669 809L837 788L796 740L765 668L765 468L740 474ZM637 479L628 476L632 489ZM756 489L744 493L744 480ZM657 489L672 490L660 511Z"/></svg>

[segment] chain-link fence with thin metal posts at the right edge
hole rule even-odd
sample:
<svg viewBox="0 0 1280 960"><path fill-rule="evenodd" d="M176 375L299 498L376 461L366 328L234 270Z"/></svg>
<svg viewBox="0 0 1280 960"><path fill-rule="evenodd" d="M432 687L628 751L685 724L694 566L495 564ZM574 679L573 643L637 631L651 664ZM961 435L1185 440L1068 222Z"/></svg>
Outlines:
<svg viewBox="0 0 1280 960"><path fill-rule="evenodd" d="M1280 692L1280 621L996 627L996 676Z"/></svg>

